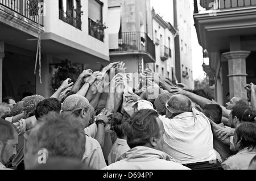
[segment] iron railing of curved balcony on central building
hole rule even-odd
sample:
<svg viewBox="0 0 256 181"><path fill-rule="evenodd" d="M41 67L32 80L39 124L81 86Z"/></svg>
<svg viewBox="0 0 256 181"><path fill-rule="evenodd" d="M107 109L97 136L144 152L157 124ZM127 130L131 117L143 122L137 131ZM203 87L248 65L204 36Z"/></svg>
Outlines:
<svg viewBox="0 0 256 181"><path fill-rule="evenodd" d="M111 49L110 52L141 51L149 53L155 59L155 44L143 32L125 32L118 40L118 49Z"/></svg>

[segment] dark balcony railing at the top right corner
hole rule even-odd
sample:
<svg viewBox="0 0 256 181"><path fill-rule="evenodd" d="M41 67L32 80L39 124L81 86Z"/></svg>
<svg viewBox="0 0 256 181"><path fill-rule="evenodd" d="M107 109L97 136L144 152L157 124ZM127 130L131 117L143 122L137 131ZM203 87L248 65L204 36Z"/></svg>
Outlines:
<svg viewBox="0 0 256 181"><path fill-rule="evenodd" d="M197 2L200 2L199 8ZM256 6L256 0L194 0L194 13L205 10L224 10L249 6Z"/></svg>

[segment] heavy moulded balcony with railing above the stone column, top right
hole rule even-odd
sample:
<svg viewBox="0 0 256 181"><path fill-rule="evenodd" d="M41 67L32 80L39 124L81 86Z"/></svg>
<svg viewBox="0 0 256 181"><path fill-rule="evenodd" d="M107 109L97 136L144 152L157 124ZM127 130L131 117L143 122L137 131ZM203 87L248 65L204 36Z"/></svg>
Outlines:
<svg viewBox="0 0 256 181"><path fill-rule="evenodd" d="M208 52L229 50L230 37L240 36L250 39L256 32L256 0L216 0L214 7L208 8L211 0L195 0L195 27L199 44ZM212 11L214 10L214 11ZM245 48L248 44L242 44Z"/></svg>

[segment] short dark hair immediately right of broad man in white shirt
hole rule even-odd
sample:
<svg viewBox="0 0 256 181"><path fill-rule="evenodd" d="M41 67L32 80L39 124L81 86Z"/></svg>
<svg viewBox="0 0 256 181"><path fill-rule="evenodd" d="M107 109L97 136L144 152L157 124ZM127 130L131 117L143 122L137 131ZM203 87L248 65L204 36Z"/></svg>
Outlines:
<svg viewBox="0 0 256 181"><path fill-rule="evenodd" d="M222 120L222 108L218 104L207 104L203 108L205 116L211 116L214 123L220 124Z"/></svg>

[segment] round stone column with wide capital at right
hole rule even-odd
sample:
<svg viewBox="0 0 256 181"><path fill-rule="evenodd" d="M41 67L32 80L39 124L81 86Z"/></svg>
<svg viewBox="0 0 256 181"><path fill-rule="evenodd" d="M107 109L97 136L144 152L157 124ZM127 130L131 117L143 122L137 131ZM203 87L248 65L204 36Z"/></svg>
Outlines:
<svg viewBox="0 0 256 181"><path fill-rule="evenodd" d="M230 99L234 96L247 99L246 85L246 58L249 51L234 51L223 53L229 62L229 91Z"/></svg>

